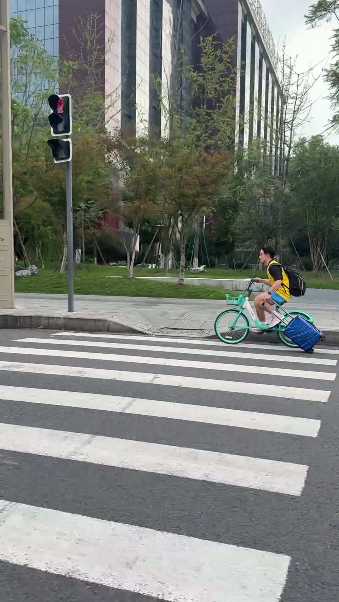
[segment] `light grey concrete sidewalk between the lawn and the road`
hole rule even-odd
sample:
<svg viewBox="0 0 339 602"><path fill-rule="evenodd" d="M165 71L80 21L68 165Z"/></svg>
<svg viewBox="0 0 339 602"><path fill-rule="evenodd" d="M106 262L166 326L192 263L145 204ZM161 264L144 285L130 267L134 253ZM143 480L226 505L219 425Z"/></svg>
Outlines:
<svg viewBox="0 0 339 602"><path fill-rule="evenodd" d="M327 343L339 344L339 303L332 299L318 305L316 297L313 294L310 302L306 297L294 299L288 309L302 309L312 315ZM90 295L75 296L74 307L74 313L69 314L66 295L17 294L16 308L0 311L0 327L211 337L215 318L227 308L220 300Z"/></svg>

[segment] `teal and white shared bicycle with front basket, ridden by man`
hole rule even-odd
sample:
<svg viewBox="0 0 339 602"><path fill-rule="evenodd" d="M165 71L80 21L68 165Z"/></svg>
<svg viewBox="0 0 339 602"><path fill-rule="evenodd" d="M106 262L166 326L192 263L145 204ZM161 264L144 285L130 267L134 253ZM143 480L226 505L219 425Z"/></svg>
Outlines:
<svg viewBox="0 0 339 602"><path fill-rule="evenodd" d="M262 326L255 313L253 312L252 307L250 306L249 297L252 294L254 279L249 281L249 284L244 291L244 294L241 294L239 297L231 297L230 295L226 295L226 304L233 305L234 309L226 309L226 311L221 312L215 320L214 330L215 334L220 338L223 343L227 343L228 345L236 345L237 343L241 343L247 337L247 335L251 332L252 326L249 317L246 312L250 314L255 326L260 328L261 330L270 330L270 332L276 332L280 341L287 345L288 347L298 347L296 343L291 341L290 338L285 334L285 330L287 329L290 321L293 320L297 315L300 315L304 320L307 320L309 323L314 326L314 319L305 314L304 311L285 311L282 307L276 305L273 311L276 314L280 314L281 322L270 328L269 326Z"/></svg>

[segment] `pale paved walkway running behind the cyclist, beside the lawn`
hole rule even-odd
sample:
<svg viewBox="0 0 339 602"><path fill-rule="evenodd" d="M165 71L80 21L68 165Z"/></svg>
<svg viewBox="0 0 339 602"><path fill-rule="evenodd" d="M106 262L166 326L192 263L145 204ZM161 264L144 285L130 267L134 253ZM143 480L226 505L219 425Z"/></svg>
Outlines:
<svg viewBox="0 0 339 602"><path fill-rule="evenodd" d="M333 293L331 299L328 299L329 292ZM323 299L324 293L326 302ZM339 332L339 291L313 290L309 293L309 299L307 296L294 299L288 307L290 310L303 309L308 312L323 331ZM215 318L226 308L226 303L222 300L204 299L78 295L74 299L74 308L74 314L68 314L66 295L17 294L16 308L0 311L0 318L2 315L19 315L23 318L34 316L110 320L122 327L131 327L149 334L201 337L214 333Z"/></svg>

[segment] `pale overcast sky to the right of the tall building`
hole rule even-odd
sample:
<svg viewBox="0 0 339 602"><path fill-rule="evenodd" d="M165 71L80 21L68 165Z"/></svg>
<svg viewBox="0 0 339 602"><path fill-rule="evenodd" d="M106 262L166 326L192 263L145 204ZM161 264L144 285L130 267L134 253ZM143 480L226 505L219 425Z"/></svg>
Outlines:
<svg viewBox="0 0 339 602"><path fill-rule="evenodd" d="M329 62L329 47L334 23L323 23L315 29L308 29L305 25L304 15L309 5L315 0L261 0L268 25L274 41L281 46L286 38L287 52L292 57L297 57L296 68L299 72L305 71L310 66L317 65L314 74L318 76L322 67ZM332 115L329 101L326 100L328 87L320 78L314 85L311 93L314 105L311 112L311 122L303 126L300 135L320 134L326 128L328 119ZM327 138L332 144L339 144L339 135L330 134Z"/></svg>

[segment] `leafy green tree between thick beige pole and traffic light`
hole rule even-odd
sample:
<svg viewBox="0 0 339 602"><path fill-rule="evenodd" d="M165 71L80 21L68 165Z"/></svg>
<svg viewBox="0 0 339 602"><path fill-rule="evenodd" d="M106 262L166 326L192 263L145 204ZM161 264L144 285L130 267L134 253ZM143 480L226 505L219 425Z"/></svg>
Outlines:
<svg viewBox="0 0 339 602"><path fill-rule="evenodd" d="M25 228L30 222L30 240L34 232L42 233L38 224L33 228L35 213L31 209L38 196L32 166L43 159L46 143L43 120L47 98L57 87L58 69L55 58L28 33L22 19L10 21L10 45L14 230L25 264L30 265L21 227L22 222L25 222ZM26 214L30 211L29 217ZM37 242L34 241L33 246Z"/></svg>

